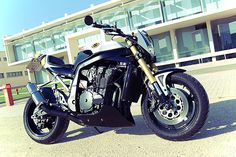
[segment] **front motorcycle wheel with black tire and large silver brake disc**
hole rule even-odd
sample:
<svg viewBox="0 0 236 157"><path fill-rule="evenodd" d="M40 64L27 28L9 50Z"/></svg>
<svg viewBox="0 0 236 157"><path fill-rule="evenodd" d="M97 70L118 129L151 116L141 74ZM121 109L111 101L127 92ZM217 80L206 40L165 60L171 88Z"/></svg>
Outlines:
<svg viewBox="0 0 236 157"><path fill-rule="evenodd" d="M148 93L142 98L146 125L168 140L187 140L204 125L209 100L203 86L192 76L176 73L167 79L169 105L158 104Z"/></svg>

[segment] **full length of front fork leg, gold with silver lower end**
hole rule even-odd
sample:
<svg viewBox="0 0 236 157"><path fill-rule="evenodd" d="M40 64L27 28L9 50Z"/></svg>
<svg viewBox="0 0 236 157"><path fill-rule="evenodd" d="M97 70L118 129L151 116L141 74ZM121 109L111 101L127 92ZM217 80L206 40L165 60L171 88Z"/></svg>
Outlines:
<svg viewBox="0 0 236 157"><path fill-rule="evenodd" d="M148 68L147 63L140 55L140 52L137 50L137 48L133 45L133 43L129 40L126 41L128 46L130 47L131 52L135 56L136 60L138 61L139 65L141 66L142 70L144 71L145 75L147 76L148 80L153 85L154 89L156 90L157 94L159 96L163 96L163 92L160 89L156 78L153 76L151 70Z"/></svg>

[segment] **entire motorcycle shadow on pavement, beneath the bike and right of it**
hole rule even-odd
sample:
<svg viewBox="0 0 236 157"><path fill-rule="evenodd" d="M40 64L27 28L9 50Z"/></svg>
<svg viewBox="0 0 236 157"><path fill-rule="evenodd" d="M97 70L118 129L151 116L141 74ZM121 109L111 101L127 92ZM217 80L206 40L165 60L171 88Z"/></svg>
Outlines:
<svg viewBox="0 0 236 157"><path fill-rule="evenodd" d="M127 128L104 128L99 127L101 131L108 132L114 130L117 134L132 135L150 135L154 134L151 129L144 124L142 115L134 116L136 125ZM197 140L217 136L220 134L236 130L236 99L221 101L210 105L208 119L199 133L190 140ZM69 142L77 139L83 139L99 135L92 127L84 127L65 133L64 138L59 143Z"/></svg>

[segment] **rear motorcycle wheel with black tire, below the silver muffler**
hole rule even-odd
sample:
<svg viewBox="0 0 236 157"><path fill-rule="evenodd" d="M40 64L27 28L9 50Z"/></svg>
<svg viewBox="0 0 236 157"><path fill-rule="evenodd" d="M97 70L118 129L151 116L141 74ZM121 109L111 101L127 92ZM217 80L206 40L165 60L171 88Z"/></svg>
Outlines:
<svg viewBox="0 0 236 157"><path fill-rule="evenodd" d="M40 112L42 116L35 118L33 116L35 112ZM42 109L38 109L32 98L26 103L23 122L30 138L41 144L52 144L58 141L69 125L68 119L50 116L43 112Z"/></svg>

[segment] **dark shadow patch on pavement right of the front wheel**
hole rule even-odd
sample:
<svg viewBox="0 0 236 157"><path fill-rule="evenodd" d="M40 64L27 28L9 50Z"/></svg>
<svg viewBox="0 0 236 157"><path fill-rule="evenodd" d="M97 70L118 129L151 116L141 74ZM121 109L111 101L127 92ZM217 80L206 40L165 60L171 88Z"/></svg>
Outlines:
<svg viewBox="0 0 236 157"><path fill-rule="evenodd" d="M236 130L236 99L210 105L205 126L193 138L202 139Z"/></svg>

